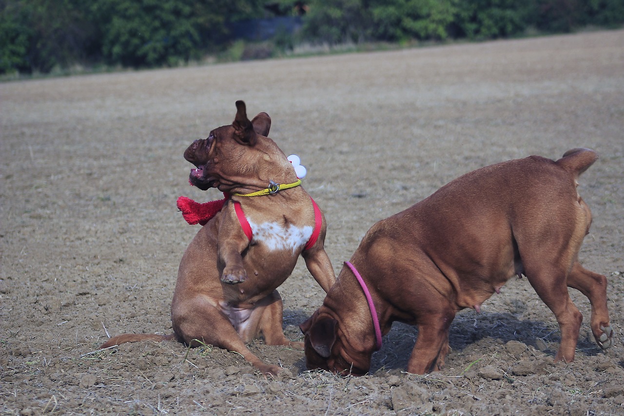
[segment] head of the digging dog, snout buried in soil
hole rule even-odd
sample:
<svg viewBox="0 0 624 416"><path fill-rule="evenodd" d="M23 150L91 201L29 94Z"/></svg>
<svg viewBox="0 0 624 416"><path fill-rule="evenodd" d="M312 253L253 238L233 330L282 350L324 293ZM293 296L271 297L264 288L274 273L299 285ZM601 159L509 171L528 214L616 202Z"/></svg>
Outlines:
<svg viewBox="0 0 624 416"><path fill-rule="evenodd" d="M308 370L326 370L338 375L365 375L371 367L372 352L356 351L343 341L338 320L321 309L300 325L305 336Z"/></svg>

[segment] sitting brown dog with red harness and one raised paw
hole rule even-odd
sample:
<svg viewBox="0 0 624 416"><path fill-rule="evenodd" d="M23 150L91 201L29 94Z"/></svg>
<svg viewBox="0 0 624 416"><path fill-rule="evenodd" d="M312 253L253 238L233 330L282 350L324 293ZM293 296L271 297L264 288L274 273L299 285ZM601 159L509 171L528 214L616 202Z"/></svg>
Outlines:
<svg viewBox="0 0 624 416"><path fill-rule="evenodd" d="M102 348L140 340L203 342L238 352L264 374L276 374L280 367L258 359L246 342L261 335L268 345L303 348L284 335L276 288L299 255L325 292L333 285L333 267L323 247L326 223L298 186L285 154L266 137L268 114L249 121L245 103L237 101L236 108L231 126L218 127L184 152L196 166L189 177L193 185L216 187L230 197L182 257L171 304L174 333L118 335Z"/></svg>

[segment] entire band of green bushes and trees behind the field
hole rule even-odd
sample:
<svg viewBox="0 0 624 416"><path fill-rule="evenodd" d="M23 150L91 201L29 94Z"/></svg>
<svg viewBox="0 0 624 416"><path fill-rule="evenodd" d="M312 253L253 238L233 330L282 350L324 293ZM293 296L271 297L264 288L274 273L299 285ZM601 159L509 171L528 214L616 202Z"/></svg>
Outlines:
<svg viewBox="0 0 624 416"><path fill-rule="evenodd" d="M232 24L300 16L251 45ZM297 44L445 41L618 27L623 0L0 0L0 74L270 57Z"/></svg>

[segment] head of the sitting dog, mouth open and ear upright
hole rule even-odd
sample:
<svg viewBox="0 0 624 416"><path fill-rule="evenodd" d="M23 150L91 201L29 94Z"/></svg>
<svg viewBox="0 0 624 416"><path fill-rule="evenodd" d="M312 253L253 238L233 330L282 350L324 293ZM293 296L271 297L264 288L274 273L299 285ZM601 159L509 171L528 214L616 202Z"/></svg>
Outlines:
<svg viewBox="0 0 624 416"><path fill-rule="evenodd" d="M214 129L207 139L196 140L185 150L184 159L195 165L189 182L203 191L215 187L222 192L262 189L270 181L295 182L290 162L266 137L270 128L268 114L261 112L249 121L245 102L236 101L232 124Z"/></svg>

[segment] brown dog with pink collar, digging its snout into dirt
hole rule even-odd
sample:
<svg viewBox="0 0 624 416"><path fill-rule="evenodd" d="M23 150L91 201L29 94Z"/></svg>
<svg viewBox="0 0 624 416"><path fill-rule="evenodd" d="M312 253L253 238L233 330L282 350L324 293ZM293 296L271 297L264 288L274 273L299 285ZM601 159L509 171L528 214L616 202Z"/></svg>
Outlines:
<svg viewBox="0 0 624 416"><path fill-rule="evenodd" d="M588 297L593 336L602 349L610 347L607 279L583 269L577 257L592 222L577 178L597 159L589 149L573 149L556 162L530 156L484 167L373 225L351 257L353 269L343 267L323 305L301 325L308 369L366 374L381 342L377 318L383 334L395 320L417 325L407 371L441 369L455 314L479 311L521 274L557 317L555 361L574 359L583 319L567 287Z"/></svg>

